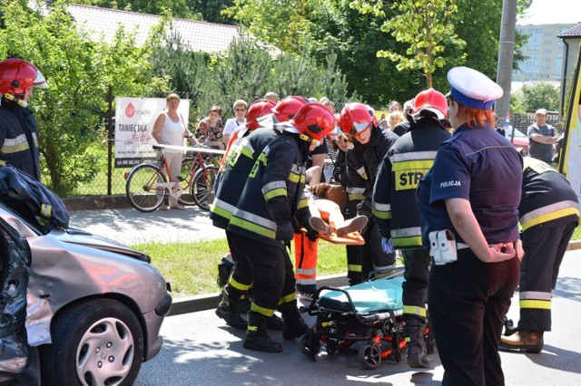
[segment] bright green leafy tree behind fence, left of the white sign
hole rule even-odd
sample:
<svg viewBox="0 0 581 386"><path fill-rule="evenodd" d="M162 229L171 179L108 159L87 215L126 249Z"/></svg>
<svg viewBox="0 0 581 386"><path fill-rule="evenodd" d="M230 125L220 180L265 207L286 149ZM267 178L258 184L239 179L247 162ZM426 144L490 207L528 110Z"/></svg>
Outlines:
<svg viewBox="0 0 581 386"><path fill-rule="evenodd" d="M38 122L42 174L57 193L71 192L96 174L102 160L87 150L103 140L107 87L113 84L118 94L130 95L163 87L146 53L147 47L136 47L123 30L113 45L92 42L77 32L61 1L45 16L17 2L5 7L0 57L34 63L50 84L36 93L31 107Z"/></svg>

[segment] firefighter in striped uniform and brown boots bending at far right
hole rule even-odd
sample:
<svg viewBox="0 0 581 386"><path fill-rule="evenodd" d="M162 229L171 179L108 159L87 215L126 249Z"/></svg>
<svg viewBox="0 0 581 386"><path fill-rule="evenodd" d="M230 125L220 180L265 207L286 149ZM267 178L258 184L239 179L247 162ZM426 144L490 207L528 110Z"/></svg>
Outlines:
<svg viewBox="0 0 581 386"><path fill-rule="evenodd" d="M525 258L520 265L520 320L500 347L541 352L551 331L551 298L566 247L579 223L579 204L569 182L547 163L524 159L518 207Z"/></svg>

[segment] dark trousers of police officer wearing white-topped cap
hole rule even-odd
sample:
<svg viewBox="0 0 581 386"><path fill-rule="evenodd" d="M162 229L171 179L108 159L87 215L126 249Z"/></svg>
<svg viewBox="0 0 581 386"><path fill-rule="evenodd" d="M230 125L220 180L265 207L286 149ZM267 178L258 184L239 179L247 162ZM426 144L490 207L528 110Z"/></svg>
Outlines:
<svg viewBox="0 0 581 386"><path fill-rule="evenodd" d="M497 343L518 284L518 265L516 257L483 263L469 249L459 250L454 263L431 265L428 309L444 385L505 383Z"/></svg>

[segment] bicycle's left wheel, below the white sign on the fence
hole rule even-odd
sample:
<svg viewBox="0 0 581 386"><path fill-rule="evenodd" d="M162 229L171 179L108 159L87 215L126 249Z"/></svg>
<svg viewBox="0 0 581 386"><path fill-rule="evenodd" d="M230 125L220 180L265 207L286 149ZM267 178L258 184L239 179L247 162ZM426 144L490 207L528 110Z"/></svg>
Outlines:
<svg viewBox="0 0 581 386"><path fill-rule="evenodd" d="M166 182L162 171L151 164L139 165L127 177L125 193L132 207L140 212L153 212L162 205L168 195L166 188L157 188L158 182Z"/></svg>

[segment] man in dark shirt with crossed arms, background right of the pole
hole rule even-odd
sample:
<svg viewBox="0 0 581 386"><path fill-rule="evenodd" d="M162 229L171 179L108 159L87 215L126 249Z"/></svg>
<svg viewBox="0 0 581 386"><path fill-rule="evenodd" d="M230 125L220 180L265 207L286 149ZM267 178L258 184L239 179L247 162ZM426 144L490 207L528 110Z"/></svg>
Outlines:
<svg viewBox="0 0 581 386"><path fill-rule="evenodd" d="M555 128L547 124L547 110L538 109L535 113L536 123L527 129L527 137L530 141L528 153L532 158L540 159L547 164L553 162L555 149L553 145L561 139Z"/></svg>

